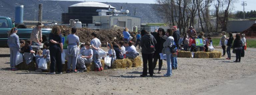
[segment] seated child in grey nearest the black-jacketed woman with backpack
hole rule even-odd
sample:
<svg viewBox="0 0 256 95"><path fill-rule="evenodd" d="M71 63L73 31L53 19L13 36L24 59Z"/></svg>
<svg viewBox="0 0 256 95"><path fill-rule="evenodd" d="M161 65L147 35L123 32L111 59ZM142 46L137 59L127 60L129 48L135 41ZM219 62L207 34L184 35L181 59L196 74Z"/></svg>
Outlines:
<svg viewBox="0 0 256 95"><path fill-rule="evenodd" d="M139 53L136 51L135 46L133 46L132 44L133 44L132 41L129 41L128 43L129 46L126 51L126 58L134 59L139 55Z"/></svg>

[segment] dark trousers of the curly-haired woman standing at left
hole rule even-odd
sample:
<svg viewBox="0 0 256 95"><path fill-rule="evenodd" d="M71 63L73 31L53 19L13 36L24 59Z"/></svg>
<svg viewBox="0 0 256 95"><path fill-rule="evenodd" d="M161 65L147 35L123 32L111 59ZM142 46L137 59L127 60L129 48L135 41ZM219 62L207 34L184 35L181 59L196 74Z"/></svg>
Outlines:
<svg viewBox="0 0 256 95"><path fill-rule="evenodd" d="M55 72L55 66L57 65L58 72L62 72L61 63L61 49L60 47L50 47L50 72Z"/></svg>

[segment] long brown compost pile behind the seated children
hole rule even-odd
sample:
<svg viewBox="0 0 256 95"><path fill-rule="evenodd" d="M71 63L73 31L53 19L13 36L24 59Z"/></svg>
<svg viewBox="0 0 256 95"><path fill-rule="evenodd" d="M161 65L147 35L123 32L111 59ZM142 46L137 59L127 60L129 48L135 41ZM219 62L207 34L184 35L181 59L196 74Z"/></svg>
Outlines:
<svg viewBox="0 0 256 95"><path fill-rule="evenodd" d="M51 27L43 27L51 28ZM62 35L67 36L71 33L71 27L69 26L60 26ZM92 40L91 33L95 32L97 38L100 39L102 45L106 45L109 41L122 41L123 40L123 30L113 30L113 29L89 29L89 28L78 28L76 35L79 37L80 42L90 42ZM136 42L137 32L129 32L133 37L132 41Z"/></svg>

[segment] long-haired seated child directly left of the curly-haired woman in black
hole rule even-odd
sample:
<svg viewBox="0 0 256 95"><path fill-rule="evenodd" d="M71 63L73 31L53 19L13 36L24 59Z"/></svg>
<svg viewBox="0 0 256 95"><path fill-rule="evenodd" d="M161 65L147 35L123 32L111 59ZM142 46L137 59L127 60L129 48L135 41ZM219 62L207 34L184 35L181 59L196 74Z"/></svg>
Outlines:
<svg viewBox="0 0 256 95"><path fill-rule="evenodd" d="M45 42L45 43L44 43L42 57L43 57L44 59L46 59L47 64L50 63L49 42ZM42 58L39 58L39 59L36 60L37 66L38 66L38 64L39 64L40 59L42 59ZM42 72L42 69L37 69L36 71Z"/></svg>

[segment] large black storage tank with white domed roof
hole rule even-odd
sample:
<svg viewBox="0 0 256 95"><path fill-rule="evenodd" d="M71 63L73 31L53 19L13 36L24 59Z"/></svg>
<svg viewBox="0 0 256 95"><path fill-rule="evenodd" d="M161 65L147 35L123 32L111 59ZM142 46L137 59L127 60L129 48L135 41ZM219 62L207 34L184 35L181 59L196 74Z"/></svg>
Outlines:
<svg viewBox="0 0 256 95"><path fill-rule="evenodd" d="M69 20L77 19L82 24L91 24L92 16L98 16L96 10L108 10L109 5L99 2L82 2L68 7L68 13L62 13L62 24L69 24ZM116 9L110 5L110 9Z"/></svg>

